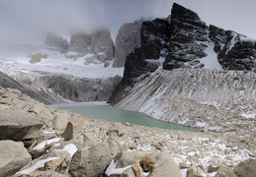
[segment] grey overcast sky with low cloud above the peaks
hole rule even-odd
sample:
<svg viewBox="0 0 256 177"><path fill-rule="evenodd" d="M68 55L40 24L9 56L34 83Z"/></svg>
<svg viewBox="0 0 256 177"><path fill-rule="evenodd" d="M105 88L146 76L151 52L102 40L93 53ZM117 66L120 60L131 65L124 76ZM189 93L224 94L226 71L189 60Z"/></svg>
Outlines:
<svg viewBox="0 0 256 177"><path fill-rule="evenodd" d="M124 23L166 18L173 0L0 0L1 40L32 43L47 31L70 33L108 26L115 38ZM256 39L255 0L176 0L207 24Z"/></svg>

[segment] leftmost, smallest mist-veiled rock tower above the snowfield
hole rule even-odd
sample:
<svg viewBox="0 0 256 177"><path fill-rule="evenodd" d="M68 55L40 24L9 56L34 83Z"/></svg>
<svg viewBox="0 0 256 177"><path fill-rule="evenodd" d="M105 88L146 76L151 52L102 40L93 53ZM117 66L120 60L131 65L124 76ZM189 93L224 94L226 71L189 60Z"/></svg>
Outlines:
<svg viewBox="0 0 256 177"><path fill-rule="evenodd" d="M63 52L68 47L68 44L69 42L60 35L47 33L43 46L51 50Z"/></svg>

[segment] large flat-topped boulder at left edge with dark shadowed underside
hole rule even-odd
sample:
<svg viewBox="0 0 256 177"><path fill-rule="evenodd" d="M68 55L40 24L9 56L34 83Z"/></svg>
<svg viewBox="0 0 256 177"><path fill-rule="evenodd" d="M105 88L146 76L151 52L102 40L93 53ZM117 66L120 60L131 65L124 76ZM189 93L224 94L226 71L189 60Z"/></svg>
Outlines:
<svg viewBox="0 0 256 177"><path fill-rule="evenodd" d="M0 109L0 112L0 140L36 139L43 127L41 122L23 112L9 109Z"/></svg>

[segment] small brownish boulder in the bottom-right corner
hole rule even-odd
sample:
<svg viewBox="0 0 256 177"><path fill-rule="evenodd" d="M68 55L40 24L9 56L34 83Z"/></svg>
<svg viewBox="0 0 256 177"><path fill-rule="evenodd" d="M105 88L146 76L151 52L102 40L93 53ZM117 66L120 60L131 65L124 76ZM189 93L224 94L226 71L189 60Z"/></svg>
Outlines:
<svg viewBox="0 0 256 177"><path fill-rule="evenodd" d="M256 159L246 159L238 163L234 169L237 177L254 177L256 175Z"/></svg>

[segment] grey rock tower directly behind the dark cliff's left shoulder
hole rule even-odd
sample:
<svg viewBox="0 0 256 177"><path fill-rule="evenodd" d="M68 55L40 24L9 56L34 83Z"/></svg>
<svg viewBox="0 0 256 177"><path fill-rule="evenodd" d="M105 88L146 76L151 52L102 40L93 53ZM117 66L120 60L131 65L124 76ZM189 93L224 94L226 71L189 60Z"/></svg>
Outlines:
<svg viewBox="0 0 256 177"><path fill-rule="evenodd" d="M115 42L115 59L113 67L124 67L127 55L140 44L140 28L142 20L124 24Z"/></svg>

